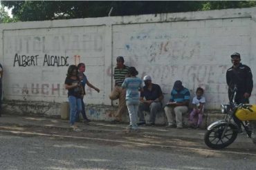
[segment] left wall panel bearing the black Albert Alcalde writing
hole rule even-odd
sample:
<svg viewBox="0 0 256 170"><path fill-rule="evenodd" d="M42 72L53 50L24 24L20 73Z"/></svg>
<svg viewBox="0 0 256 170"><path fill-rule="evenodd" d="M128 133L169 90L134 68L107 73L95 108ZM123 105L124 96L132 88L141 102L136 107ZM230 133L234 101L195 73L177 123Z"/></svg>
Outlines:
<svg viewBox="0 0 256 170"><path fill-rule="evenodd" d="M3 31L4 98L66 100L68 65L86 63L89 81L104 88L105 27L38 28ZM94 68L97 68L95 70ZM91 103L104 103L101 94L87 90Z"/></svg>

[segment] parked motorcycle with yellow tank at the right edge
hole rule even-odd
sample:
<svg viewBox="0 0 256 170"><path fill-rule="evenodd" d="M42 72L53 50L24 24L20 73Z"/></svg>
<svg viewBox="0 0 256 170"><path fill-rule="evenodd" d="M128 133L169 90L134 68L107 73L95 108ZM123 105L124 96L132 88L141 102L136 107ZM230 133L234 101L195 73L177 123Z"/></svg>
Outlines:
<svg viewBox="0 0 256 170"><path fill-rule="evenodd" d="M238 126L233 122L233 117L239 119L248 138L252 138L256 145L256 105L237 104L235 96L237 87L233 89L232 100L227 105L221 105L221 113L226 114L223 120L218 120L207 127L204 135L205 144L212 149L223 149L235 141ZM244 121L248 124L245 124Z"/></svg>

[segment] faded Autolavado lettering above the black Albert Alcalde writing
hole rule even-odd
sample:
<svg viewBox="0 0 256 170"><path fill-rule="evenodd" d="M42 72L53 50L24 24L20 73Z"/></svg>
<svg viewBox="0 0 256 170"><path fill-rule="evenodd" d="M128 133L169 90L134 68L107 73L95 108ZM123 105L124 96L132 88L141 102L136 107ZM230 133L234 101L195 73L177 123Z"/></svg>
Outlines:
<svg viewBox="0 0 256 170"><path fill-rule="evenodd" d="M65 34L43 36L6 36L5 54L38 54L81 50L82 52L102 52L102 33Z"/></svg>

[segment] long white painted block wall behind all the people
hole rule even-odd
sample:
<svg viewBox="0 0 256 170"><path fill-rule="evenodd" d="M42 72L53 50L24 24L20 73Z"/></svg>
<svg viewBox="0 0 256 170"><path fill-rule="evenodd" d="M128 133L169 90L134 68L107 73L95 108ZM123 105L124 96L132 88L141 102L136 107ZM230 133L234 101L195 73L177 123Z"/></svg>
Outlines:
<svg viewBox="0 0 256 170"><path fill-rule="evenodd" d="M228 102L226 70L230 54L256 70L256 8L36 21L0 25L0 61L4 68L5 100L62 103L68 65L86 63L89 81L101 92L86 88L86 103L111 105L112 70L116 56L135 66L138 76L149 74L161 85L165 101L174 81L190 89L205 89L208 109ZM45 55L62 56L59 66ZM28 65L19 56L34 56ZM16 57L15 57L16 56ZM37 56L37 61L35 60ZM78 57L80 56L80 57ZM22 59L21 59L22 61ZM256 87L256 85L255 85ZM251 103L256 103L253 90ZM114 103L115 104L115 103Z"/></svg>

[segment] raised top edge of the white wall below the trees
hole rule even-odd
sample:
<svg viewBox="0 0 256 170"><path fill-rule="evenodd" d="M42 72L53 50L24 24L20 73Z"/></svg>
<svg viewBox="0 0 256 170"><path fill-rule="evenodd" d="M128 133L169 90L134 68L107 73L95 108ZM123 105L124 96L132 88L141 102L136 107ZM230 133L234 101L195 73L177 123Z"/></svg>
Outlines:
<svg viewBox="0 0 256 170"><path fill-rule="evenodd" d="M22 30L35 28L62 28L93 25L124 25L132 23L156 23L174 21L196 21L205 19L250 18L256 16L256 8L232 8L196 12L142 14L121 17L98 17L84 19L60 19L51 21L26 21L1 23L0 30Z"/></svg>

